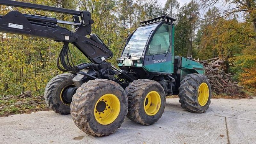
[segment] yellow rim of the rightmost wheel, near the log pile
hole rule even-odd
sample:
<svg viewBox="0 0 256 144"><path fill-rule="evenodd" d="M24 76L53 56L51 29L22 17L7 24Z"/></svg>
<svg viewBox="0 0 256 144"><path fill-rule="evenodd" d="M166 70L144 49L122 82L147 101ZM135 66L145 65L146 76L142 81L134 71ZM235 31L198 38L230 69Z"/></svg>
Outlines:
<svg viewBox="0 0 256 144"><path fill-rule="evenodd" d="M200 84L197 92L197 100L200 106L205 106L209 99L209 87L206 83Z"/></svg>

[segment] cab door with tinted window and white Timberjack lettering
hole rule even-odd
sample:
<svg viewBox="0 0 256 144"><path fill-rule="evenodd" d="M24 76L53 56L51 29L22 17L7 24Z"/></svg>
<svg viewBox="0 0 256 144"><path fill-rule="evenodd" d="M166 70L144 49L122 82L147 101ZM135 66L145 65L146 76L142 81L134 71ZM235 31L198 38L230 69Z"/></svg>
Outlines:
<svg viewBox="0 0 256 144"><path fill-rule="evenodd" d="M149 72L172 73L172 26L163 23L152 36L145 53L143 68Z"/></svg>

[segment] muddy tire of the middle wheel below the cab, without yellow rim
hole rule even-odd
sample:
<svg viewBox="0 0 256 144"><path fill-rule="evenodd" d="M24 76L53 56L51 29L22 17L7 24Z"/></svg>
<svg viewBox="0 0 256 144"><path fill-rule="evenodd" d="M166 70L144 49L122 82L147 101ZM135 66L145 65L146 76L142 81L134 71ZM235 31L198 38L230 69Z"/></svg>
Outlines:
<svg viewBox="0 0 256 144"><path fill-rule="evenodd" d="M158 112L150 116L146 113L144 105L148 93L152 91L159 93L161 105ZM129 103L127 117L130 120L142 125L151 125L163 115L166 98L164 88L158 82L148 79L135 80L129 84L125 92Z"/></svg>

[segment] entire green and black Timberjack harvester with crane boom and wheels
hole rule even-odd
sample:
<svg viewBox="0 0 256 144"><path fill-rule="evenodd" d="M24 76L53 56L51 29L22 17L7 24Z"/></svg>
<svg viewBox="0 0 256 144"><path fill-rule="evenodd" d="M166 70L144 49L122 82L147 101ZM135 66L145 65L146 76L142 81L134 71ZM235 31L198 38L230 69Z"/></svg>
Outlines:
<svg viewBox="0 0 256 144"><path fill-rule="evenodd" d="M70 114L75 124L93 136L107 136L118 129L125 116L150 125L163 114L165 97L180 97L181 107L205 112L211 103L211 86L204 68L191 58L174 56L175 19L160 16L142 21L120 48L115 68L113 57L100 38L91 34L91 13L11 0L1 5L73 15L73 22L11 11L0 16L0 32L42 37L63 43L57 60L64 73L46 85L44 98L60 114ZM75 32L58 26L75 26ZM89 37L89 38L88 38ZM68 44L74 44L91 63L75 66Z"/></svg>

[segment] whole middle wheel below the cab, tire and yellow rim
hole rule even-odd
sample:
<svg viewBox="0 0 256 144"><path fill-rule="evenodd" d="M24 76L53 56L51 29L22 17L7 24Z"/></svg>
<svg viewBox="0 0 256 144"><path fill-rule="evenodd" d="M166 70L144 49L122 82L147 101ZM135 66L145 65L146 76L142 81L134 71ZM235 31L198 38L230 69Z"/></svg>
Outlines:
<svg viewBox="0 0 256 144"><path fill-rule="evenodd" d="M126 88L129 107L127 117L132 121L150 125L161 118L165 108L163 87L148 79L135 80Z"/></svg>

